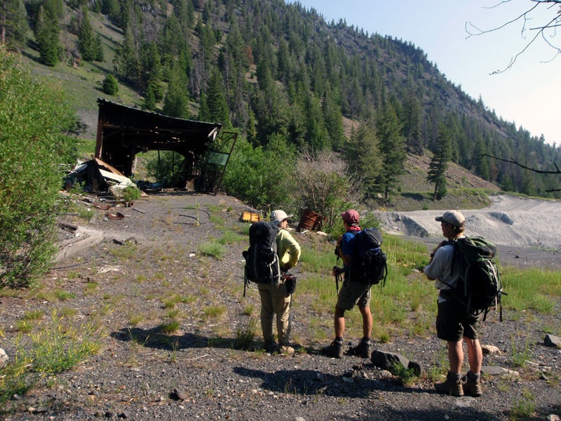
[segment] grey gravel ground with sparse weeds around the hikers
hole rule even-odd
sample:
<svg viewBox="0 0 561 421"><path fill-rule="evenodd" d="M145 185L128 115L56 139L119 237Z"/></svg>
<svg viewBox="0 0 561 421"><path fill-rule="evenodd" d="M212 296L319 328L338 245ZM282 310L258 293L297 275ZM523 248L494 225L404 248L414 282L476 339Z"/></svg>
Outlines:
<svg viewBox="0 0 561 421"><path fill-rule="evenodd" d="M561 415L560 350L543 346L544 330L560 335L559 302L552 315L507 311L502 323L489 315L482 342L499 347L501 355L485 356L484 365L518 375L486 375L478 399L437 394L426 376L404 386L367 359L321 356L317 349L331 333L323 340L311 335L316 309L299 302L298 289L292 340L307 352L289 357L235 349L236 330L259 316L257 288L242 298L241 250L247 240L227 244L222 260L202 256L198 247L223 232L241 231L237 220L243 210L248 207L231 197L197 194L141 199L121 208L126 218L120 221L95 210L97 218L88 226L104 232L103 243L59 262L79 265L52 270L43 287L0 298L0 330L6 335L0 347L13 355L16 323L31 309L49 314L56 307L76 326L102 325L100 352L10 401L5 419L508 420L516 408L536 419ZM126 239L123 245L114 241ZM325 241L318 234L297 239L303 248ZM424 241L429 248L438 242ZM543 261L543 267L561 269L552 252L501 246L499 253L502 265L541 267ZM60 290L74 298L53 298ZM178 292L183 300L166 309L165 298ZM169 313L172 307L180 316ZM218 307L224 314L205 314ZM163 333L158 326L174 317L179 330ZM330 325L332 313L322 317ZM447 365L445 344L434 332L426 336L403 331L374 347L400 352L427 371L441 369ZM524 353L529 363L515 367L515 355Z"/></svg>

